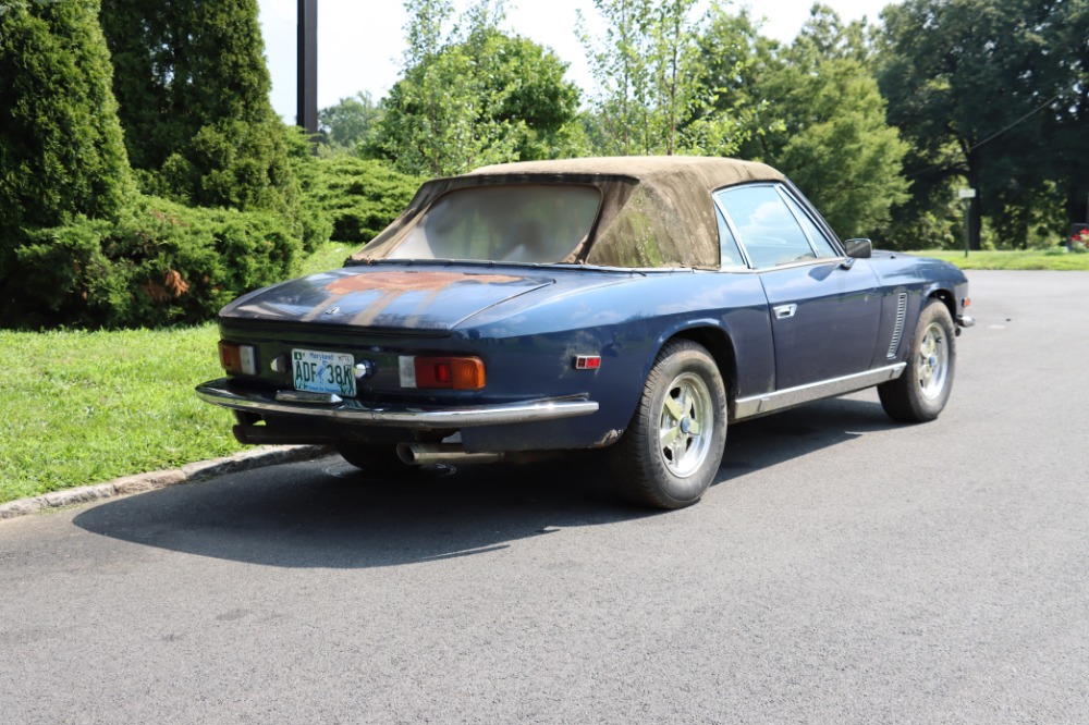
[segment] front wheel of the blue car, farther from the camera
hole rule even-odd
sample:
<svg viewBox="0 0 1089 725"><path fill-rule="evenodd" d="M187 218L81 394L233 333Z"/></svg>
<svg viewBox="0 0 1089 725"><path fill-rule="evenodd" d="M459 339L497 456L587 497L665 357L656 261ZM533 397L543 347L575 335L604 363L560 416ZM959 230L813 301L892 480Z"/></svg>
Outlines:
<svg viewBox="0 0 1089 725"><path fill-rule="evenodd" d="M950 400L955 371L953 318L945 303L931 299L915 325L904 374L878 385L881 407L900 422L933 420Z"/></svg>

